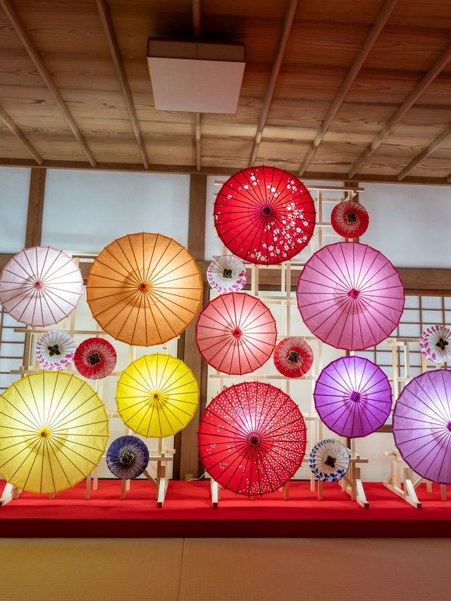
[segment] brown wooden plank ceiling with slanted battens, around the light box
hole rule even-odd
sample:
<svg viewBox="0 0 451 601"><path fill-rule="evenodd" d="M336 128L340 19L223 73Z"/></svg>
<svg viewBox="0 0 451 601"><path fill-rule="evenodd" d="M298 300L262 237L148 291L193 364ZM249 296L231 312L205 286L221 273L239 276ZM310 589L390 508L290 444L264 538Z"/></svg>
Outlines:
<svg viewBox="0 0 451 601"><path fill-rule="evenodd" d="M244 42L236 115L156 111L148 37ZM451 182L451 0L0 0L0 165Z"/></svg>

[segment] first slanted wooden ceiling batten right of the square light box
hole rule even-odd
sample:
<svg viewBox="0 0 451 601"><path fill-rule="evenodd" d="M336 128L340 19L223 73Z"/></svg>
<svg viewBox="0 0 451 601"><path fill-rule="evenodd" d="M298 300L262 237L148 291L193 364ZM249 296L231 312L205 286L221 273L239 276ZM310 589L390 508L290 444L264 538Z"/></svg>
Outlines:
<svg viewBox="0 0 451 601"><path fill-rule="evenodd" d="M259 124L257 125L254 143L252 144L251 156L249 158L249 167L252 167L257 157L257 152L259 150L259 144L261 141L261 135L264 130L266 118L268 117L269 107L271 106L274 90L276 89L276 82L279 75L280 67L282 66L283 54L285 53L285 48L288 44L288 38L290 37L290 31L293 20L295 20L296 9L297 0L288 0L287 8L285 11L285 18L283 20L282 30L280 31L280 37L276 49L276 56L274 57L271 75L269 76L268 87L266 89L263 107L261 109Z"/></svg>

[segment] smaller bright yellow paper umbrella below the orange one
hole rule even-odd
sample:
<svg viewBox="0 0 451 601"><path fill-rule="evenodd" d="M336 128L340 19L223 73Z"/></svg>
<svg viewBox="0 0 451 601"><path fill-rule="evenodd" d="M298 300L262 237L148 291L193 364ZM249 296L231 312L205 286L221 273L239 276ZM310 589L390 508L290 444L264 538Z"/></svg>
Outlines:
<svg viewBox="0 0 451 601"><path fill-rule="evenodd" d="M180 359L146 355L123 371L116 403L130 430L147 438L164 438L192 419L199 404L199 386Z"/></svg>

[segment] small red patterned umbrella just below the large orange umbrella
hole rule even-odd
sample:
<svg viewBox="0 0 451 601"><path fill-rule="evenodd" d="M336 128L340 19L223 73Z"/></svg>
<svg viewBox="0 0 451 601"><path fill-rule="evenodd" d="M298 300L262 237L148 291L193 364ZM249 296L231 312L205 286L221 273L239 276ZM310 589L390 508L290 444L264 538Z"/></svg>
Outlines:
<svg viewBox="0 0 451 601"><path fill-rule="evenodd" d="M75 351L74 363L89 380L106 378L116 367L116 351L104 338L88 338Z"/></svg>

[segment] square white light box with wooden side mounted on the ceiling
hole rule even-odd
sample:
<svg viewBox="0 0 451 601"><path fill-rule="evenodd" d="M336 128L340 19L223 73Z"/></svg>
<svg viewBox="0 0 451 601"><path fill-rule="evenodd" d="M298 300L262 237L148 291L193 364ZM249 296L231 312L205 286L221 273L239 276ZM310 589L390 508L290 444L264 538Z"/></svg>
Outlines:
<svg viewBox="0 0 451 601"><path fill-rule="evenodd" d="M149 38L147 63L157 111L237 112L244 44Z"/></svg>

